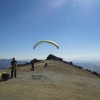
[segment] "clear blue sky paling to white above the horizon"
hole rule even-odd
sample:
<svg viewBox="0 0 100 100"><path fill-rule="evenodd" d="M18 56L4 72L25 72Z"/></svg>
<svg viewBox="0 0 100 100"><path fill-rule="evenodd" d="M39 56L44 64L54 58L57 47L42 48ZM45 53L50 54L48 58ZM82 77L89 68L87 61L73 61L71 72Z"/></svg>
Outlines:
<svg viewBox="0 0 100 100"><path fill-rule="evenodd" d="M99 58L99 43L100 0L0 0L0 59Z"/></svg>

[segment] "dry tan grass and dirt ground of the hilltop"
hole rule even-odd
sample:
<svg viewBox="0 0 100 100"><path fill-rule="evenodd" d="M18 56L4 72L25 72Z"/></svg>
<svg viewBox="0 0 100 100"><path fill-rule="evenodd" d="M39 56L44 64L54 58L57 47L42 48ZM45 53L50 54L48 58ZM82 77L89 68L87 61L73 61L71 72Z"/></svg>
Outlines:
<svg viewBox="0 0 100 100"><path fill-rule="evenodd" d="M47 61L17 68L17 78L0 82L0 100L100 100L100 78L71 65ZM10 73L10 69L5 70Z"/></svg>

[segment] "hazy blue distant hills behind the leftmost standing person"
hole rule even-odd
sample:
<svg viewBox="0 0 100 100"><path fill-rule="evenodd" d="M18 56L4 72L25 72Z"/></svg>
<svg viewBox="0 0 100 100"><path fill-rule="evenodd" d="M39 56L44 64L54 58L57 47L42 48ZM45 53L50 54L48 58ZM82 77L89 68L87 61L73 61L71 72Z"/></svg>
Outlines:
<svg viewBox="0 0 100 100"><path fill-rule="evenodd" d="M11 67L12 59L0 59L0 69L5 69ZM25 64L28 61L19 61L17 60L18 64Z"/></svg>

